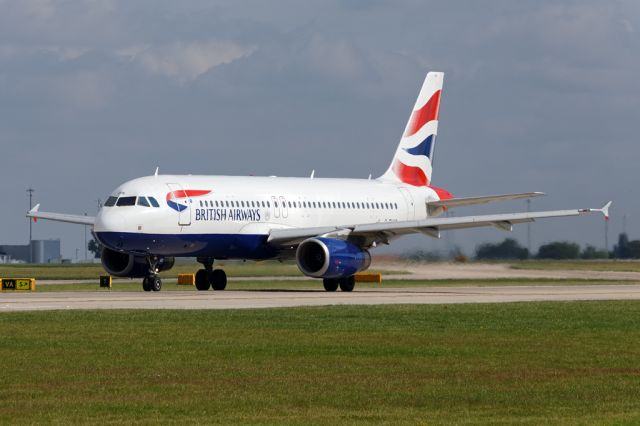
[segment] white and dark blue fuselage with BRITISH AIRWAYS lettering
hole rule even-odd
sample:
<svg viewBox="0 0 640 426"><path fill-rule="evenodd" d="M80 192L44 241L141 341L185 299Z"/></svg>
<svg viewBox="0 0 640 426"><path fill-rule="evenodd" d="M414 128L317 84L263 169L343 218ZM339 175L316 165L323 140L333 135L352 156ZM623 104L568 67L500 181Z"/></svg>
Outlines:
<svg viewBox="0 0 640 426"><path fill-rule="evenodd" d="M94 226L112 249L253 259L277 257L259 249L273 228L424 219L426 202L439 199L429 187L378 180L191 175L134 179L112 197Z"/></svg>

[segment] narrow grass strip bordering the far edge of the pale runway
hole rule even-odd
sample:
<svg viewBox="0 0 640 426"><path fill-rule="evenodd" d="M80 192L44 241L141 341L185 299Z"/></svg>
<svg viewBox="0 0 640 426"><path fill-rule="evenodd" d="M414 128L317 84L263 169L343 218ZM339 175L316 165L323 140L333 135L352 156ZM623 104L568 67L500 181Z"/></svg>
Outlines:
<svg viewBox="0 0 640 426"><path fill-rule="evenodd" d="M461 287L461 286L545 286L545 285L620 285L636 284L635 281L610 281L600 279L545 279L545 278L504 278L504 279L456 279L456 280L383 280L382 285L357 283L356 288L399 288L399 287ZM228 290L265 290L265 289L322 289L321 280L249 280L234 281L227 285ZM38 292L65 291L142 291L140 280L115 281L111 289L104 289L95 283L36 284ZM177 285L175 281L164 281L162 291L196 291L194 286Z"/></svg>

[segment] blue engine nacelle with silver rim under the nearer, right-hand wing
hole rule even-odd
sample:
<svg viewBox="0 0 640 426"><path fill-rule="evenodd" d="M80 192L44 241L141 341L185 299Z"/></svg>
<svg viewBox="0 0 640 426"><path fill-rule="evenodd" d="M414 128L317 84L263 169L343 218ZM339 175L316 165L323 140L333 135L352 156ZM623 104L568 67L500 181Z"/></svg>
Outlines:
<svg viewBox="0 0 640 426"><path fill-rule="evenodd" d="M300 271L314 278L348 277L371 265L367 250L335 238L309 238L298 246L296 262Z"/></svg>

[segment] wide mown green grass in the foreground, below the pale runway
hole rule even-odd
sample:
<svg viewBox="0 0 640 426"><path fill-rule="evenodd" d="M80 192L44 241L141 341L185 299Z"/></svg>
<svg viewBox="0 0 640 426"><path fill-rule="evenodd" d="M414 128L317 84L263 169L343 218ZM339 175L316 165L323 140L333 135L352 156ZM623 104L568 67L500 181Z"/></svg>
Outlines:
<svg viewBox="0 0 640 426"><path fill-rule="evenodd" d="M640 422L637 302L0 315L0 423Z"/></svg>

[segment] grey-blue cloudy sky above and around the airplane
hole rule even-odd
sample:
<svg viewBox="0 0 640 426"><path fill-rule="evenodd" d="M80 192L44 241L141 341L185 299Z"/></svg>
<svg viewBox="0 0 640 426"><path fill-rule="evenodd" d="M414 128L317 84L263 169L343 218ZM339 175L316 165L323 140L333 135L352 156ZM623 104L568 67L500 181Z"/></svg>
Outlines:
<svg viewBox="0 0 640 426"><path fill-rule="evenodd" d="M545 192L532 210L613 200L610 245L640 238L639 30L635 0L0 0L0 244L28 241L29 187L42 210L93 215L156 167L378 176L430 70L445 72L434 185ZM604 230L598 215L551 219L531 243L602 247ZM84 256L82 226L33 235ZM386 252L526 236L456 231Z"/></svg>

